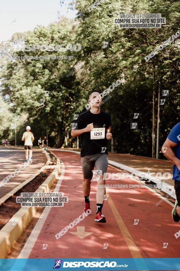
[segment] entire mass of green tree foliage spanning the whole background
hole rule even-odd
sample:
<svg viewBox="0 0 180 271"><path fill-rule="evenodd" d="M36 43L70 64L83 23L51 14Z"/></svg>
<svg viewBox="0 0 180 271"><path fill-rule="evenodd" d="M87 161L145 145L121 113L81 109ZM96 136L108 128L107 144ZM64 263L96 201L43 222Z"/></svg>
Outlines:
<svg viewBox="0 0 180 271"><path fill-rule="evenodd" d="M37 26L33 31L13 35L14 42L80 43L82 50L16 53L20 56L73 55L74 60L1 61L1 92L4 97L9 95L6 103L13 104L8 111L27 114L19 133L29 123L37 140L45 135L48 124L51 146L56 146L56 142L58 147L62 146L64 136L69 136L68 144L72 147L75 142L70 136L73 114L85 110L87 94L91 90L103 91L117 79L124 78L125 81L111 92L112 98L102 106L102 110L112 117L114 150L151 156L152 92L155 89L157 115L159 83L161 90L170 90L160 110L160 146L172 126L179 121L179 49L174 40L148 62L144 57L178 31L180 3L104 0L89 12L88 7L94 1L74 2L70 3L70 8L78 10L77 24L63 17L48 27ZM166 25L160 29L119 29L113 23L119 13L161 13L162 17L166 17ZM109 42L109 48L101 47L104 41ZM85 61L85 65L67 78L66 75L82 61ZM14 73L17 65L19 70ZM137 71L133 71L135 65L138 65ZM44 91L50 91L48 97L44 97ZM40 99L44 98L45 103L40 106ZM138 130L130 129L130 122L135 121L134 113L140 114L136 119Z"/></svg>

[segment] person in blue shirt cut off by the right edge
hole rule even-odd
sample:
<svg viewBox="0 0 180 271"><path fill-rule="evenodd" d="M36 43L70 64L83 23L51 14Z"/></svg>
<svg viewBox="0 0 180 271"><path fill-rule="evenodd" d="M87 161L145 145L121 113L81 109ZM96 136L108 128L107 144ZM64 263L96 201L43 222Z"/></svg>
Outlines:
<svg viewBox="0 0 180 271"><path fill-rule="evenodd" d="M173 152L174 147L176 147L176 155ZM178 222L180 220L180 122L170 131L161 151L174 164L173 180L177 199L172 210L172 217L175 222Z"/></svg>

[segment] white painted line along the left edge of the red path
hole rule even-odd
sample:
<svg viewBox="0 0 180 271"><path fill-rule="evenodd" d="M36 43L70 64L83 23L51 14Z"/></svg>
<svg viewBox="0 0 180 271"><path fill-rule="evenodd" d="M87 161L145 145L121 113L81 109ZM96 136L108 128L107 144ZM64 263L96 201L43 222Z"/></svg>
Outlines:
<svg viewBox="0 0 180 271"><path fill-rule="evenodd" d="M56 184L56 187L54 189L54 192L59 192L59 188L61 186L61 183L62 183L62 180L63 180L63 177L64 177L64 172L65 172L65 166L64 166L64 163L62 160L60 160L61 162L61 176L59 177L59 180ZM23 249L21 250L21 253L19 254L19 256L17 257L17 259L27 259L29 258L29 255L35 245L35 242L37 240L37 237L39 236L40 234L40 231L44 225L44 222L50 212L52 207L45 207L44 208L44 211L42 212L39 220L37 221L33 231L31 232L31 234L29 235L29 238L27 240L27 242L25 243ZM56 208L56 207L55 207Z"/></svg>

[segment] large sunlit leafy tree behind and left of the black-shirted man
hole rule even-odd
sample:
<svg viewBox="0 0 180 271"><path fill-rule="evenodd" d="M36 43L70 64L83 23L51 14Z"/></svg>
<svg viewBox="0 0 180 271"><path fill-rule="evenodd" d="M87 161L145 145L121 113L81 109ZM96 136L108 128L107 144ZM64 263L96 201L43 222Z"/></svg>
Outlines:
<svg viewBox="0 0 180 271"><path fill-rule="evenodd" d="M47 28L43 26L36 27L33 31L23 33L21 39L25 44L67 44L77 43L75 28L70 24L69 19L61 18L59 22L50 24ZM17 42L17 35L12 37ZM20 34L18 34L18 40ZM74 107L80 108L83 100L81 92L77 91L79 83L75 75L70 78L66 75L74 69L77 61L77 51L66 52L48 52L38 51L37 53L16 52L20 56L52 56L73 55L74 60L66 59L43 59L43 60L22 60L8 61L2 70L2 93L9 95L9 102L16 106L17 113L28 113L28 119L31 123L39 119L41 127L53 124L54 130L57 129L57 147L64 143L65 127L70 126L70 119L73 119ZM14 67L18 65L18 72L14 73ZM71 79L71 80L70 80ZM48 93L48 96L44 96ZM40 105L40 100L44 104ZM67 122L68 121L68 122Z"/></svg>

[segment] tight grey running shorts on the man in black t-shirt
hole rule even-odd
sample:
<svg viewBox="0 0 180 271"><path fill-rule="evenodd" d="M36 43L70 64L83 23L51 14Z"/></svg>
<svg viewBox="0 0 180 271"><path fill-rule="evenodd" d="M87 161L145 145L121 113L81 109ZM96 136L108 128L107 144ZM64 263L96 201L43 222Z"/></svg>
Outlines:
<svg viewBox="0 0 180 271"><path fill-rule="evenodd" d="M94 166L96 170L106 173L108 168L108 155L106 153L91 154L81 157L81 167L84 179L92 179Z"/></svg>

